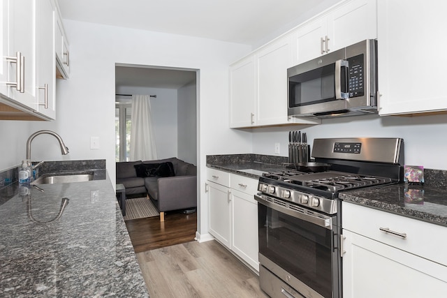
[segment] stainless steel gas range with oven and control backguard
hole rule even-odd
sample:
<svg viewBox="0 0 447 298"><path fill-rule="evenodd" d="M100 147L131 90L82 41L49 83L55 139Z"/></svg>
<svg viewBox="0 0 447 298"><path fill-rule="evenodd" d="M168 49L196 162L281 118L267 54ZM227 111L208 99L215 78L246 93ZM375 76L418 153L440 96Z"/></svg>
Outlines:
<svg viewBox="0 0 447 298"><path fill-rule="evenodd" d="M403 181L400 138L316 139L312 157L330 170L258 181L259 278L270 297L341 298L339 192Z"/></svg>

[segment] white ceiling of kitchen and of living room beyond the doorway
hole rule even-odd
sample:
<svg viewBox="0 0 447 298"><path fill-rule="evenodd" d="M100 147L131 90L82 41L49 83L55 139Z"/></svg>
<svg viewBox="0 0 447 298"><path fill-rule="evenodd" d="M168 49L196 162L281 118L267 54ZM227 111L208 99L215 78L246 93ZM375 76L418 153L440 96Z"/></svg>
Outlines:
<svg viewBox="0 0 447 298"><path fill-rule="evenodd" d="M58 0L63 19L256 45L339 0ZM270 38L272 39L272 38ZM178 89L195 72L117 68L117 84ZM173 73L170 73L173 71ZM135 75L137 74L138 75ZM147 82L152 82L149 86Z"/></svg>

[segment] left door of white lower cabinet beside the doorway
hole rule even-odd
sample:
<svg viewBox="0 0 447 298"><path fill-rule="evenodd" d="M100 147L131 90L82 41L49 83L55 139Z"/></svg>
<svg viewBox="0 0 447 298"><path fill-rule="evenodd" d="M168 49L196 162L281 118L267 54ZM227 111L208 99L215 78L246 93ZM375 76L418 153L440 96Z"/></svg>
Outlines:
<svg viewBox="0 0 447 298"><path fill-rule="evenodd" d="M221 244L230 248L231 197L230 189L208 181L208 204L210 207L210 234Z"/></svg>

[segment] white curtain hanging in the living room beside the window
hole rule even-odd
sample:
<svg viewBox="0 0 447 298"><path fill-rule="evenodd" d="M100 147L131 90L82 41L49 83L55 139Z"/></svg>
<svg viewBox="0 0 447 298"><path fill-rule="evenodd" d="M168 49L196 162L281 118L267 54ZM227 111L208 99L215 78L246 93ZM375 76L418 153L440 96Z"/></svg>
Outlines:
<svg viewBox="0 0 447 298"><path fill-rule="evenodd" d="M150 96L132 96L131 161L152 161L156 158Z"/></svg>

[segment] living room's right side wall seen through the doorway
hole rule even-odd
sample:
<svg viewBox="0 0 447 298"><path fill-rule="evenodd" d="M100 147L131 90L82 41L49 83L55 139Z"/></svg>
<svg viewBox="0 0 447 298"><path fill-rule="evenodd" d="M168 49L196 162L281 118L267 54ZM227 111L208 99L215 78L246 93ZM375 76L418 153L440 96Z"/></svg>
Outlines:
<svg viewBox="0 0 447 298"><path fill-rule="evenodd" d="M187 84L178 89L177 156L186 163L197 165L197 84Z"/></svg>

